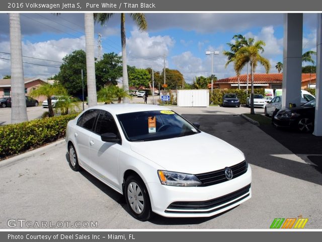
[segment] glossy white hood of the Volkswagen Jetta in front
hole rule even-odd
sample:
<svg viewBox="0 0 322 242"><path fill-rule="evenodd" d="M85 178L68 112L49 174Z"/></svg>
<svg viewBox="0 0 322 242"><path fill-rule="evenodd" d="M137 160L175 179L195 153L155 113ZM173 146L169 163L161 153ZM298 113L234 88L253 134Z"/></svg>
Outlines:
<svg viewBox="0 0 322 242"><path fill-rule="evenodd" d="M132 142L132 151L169 171L199 174L240 163L244 154L206 133L173 139Z"/></svg>

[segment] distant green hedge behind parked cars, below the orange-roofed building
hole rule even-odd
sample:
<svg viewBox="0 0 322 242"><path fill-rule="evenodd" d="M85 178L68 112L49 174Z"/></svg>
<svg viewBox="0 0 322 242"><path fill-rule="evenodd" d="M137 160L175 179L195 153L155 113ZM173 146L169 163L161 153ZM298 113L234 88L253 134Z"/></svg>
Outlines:
<svg viewBox="0 0 322 242"><path fill-rule="evenodd" d="M246 89L213 89L212 97L210 96L210 100L213 104L222 104L222 97L226 93L235 93L239 98L240 104L246 104ZM248 89L248 95L251 94L251 89ZM262 94L264 96L265 90L264 88L256 88L254 89L254 94Z"/></svg>

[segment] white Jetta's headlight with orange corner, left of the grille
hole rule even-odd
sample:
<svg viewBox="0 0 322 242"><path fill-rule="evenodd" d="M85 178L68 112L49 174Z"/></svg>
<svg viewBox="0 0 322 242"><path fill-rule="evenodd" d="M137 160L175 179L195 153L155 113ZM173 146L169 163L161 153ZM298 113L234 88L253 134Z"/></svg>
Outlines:
<svg viewBox="0 0 322 242"><path fill-rule="evenodd" d="M196 187L202 184L197 176L193 174L158 170L157 175L159 176L162 185L176 187Z"/></svg>

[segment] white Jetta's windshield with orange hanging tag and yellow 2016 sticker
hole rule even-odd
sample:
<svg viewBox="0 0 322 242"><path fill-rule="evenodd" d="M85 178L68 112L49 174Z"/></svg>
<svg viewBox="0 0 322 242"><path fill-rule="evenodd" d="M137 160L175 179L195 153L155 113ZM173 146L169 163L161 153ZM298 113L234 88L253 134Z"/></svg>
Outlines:
<svg viewBox="0 0 322 242"><path fill-rule="evenodd" d="M151 141L198 134L194 126L170 110L131 112L117 115L129 141Z"/></svg>

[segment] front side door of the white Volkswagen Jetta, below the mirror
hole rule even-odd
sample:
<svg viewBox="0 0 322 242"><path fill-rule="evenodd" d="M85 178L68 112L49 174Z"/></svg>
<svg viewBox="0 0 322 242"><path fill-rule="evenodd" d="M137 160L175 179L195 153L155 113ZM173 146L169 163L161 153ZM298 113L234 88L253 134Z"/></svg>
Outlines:
<svg viewBox="0 0 322 242"><path fill-rule="evenodd" d="M95 132L92 133L90 138L92 167L99 177L120 190L122 188L118 179L118 156L121 145L102 141L101 135L105 133L113 133L119 136L119 131L112 114L101 110Z"/></svg>

